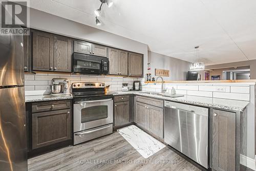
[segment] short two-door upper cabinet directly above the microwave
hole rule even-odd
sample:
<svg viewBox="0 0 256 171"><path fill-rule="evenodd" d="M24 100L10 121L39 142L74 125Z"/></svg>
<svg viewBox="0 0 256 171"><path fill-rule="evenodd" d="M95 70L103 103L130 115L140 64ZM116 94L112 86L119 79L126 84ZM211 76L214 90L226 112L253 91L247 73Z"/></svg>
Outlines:
<svg viewBox="0 0 256 171"><path fill-rule="evenodd" d="M92 44L86 41L74 41L74 52L83 54L92 54L96 56L107 57L108 48L102 45Z"/></svg>

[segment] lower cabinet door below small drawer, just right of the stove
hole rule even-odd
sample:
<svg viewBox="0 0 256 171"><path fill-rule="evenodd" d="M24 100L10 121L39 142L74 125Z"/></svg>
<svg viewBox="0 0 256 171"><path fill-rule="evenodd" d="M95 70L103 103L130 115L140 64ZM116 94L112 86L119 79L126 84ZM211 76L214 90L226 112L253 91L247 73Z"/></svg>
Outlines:
<svg viewBox="0 0 256 171"><path fill-rule="evenodd" d="M115 103L115 126L120 126L129 123L129 101Z"/></svg>

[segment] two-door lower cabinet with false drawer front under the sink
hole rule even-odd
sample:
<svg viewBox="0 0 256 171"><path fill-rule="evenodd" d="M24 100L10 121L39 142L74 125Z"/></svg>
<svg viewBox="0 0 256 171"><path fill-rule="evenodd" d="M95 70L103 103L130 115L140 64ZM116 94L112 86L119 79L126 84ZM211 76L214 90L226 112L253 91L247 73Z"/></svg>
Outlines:
<svg viewBox="0 0 256 171"><path fill-rule="evenodd" d="M150 100L149 100L150 101ZM136 101L134 122L152 134L163 138L163 108Z"/></svg>

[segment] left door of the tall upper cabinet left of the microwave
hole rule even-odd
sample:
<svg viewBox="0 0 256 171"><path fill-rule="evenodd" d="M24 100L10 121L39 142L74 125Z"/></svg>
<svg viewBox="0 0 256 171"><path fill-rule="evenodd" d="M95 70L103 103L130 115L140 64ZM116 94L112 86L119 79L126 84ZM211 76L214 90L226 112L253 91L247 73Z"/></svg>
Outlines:
<svg viewBox="0 0 256 171"><path fill-rule="evenodd" d="M33 70L53 71L53 35L33 32Z"/></svg>

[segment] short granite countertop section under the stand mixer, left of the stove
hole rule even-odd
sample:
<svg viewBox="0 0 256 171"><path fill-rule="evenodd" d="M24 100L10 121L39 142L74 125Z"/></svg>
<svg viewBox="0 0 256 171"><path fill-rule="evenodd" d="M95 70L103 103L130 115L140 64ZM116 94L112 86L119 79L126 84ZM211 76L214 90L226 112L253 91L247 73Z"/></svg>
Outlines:
<svg viewBox="0 0 256 171"><path fill-rule="evenodd" d="M34 95L34 96L25 96L25 102L65 100L65 99L72 99L72 98L73 98L72 94L70 94L70 95L59 95L59 96Z"/></svg>

